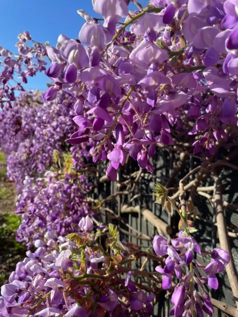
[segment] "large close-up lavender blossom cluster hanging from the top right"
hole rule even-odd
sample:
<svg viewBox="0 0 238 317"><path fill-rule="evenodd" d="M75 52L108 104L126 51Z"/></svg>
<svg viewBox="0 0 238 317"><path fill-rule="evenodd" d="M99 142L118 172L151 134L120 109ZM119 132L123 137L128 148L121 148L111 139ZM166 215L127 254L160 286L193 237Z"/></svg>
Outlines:
<svg viewBox="0 0 238 317"><path fill-rule="evenodd" d="M196 137L194 154L210 157L238 124L236 1L151 2L128 12L129 1L93 0L103 25L78 10L79 40L60 35L46 48L55 86L44 98L64 90L77 99L79 128L67 142L96 142L90 153L110 160L112 181L127 153L152 172L156 144L173 145L181 131Z"/></svg>

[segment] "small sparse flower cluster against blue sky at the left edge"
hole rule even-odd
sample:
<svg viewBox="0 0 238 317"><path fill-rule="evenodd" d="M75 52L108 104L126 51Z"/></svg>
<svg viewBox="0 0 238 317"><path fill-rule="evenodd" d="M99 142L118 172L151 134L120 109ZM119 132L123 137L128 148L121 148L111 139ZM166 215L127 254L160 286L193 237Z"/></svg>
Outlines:
<svg viewBox="0 0 238 317"><path fill-rule="evenodd" d="M27 77L46 70L46 48L42 43L32 40L28 31L18 35L18 53L0 46L0 107L15 101L15 91L24 91Z"/></svg>

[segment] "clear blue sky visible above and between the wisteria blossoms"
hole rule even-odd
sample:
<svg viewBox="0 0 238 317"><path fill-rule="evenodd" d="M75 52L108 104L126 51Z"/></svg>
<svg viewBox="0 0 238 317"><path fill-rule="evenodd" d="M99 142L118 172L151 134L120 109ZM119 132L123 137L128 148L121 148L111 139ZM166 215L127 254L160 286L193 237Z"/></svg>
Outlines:
<svg viewBox="0 0 238 317"><path fill-rule="evenodd" d="M148 0L141 0L141 4ZM78 9L83 9L93 17L99 17L92 9L91 0L5 0L0 8L0 45L11 52L16 52L17 36L29 31L36 42L46 41L55 46L58 36L64 34L69 38L78 38L78 33L85 22ZM135 9L134 4L129 9ZM46 90L50 79L43 73L28 77L28 89Z"/></svg>

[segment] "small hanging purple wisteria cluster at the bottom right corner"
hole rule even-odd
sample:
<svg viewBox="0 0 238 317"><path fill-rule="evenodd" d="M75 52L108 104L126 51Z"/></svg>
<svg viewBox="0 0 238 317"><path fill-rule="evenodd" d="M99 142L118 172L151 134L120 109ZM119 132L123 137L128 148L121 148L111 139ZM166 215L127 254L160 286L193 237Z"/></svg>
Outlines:
<svg viewBox="0 0 238 317"><path fill-rule="evenodd" d="M202 251L196 240L179 232L179 238L172 239L172 245L163 236L155 236L153 247L158 256L168 256L165 267L157 266L155 269L163 277L162 287L172 288L173 276L179 279L172 295L174 305L171 316L203 316L203 313L212 316L214 313L209 294L204 285L218 289L216 273L221 273L230 262L231 256L225 250L215 248L212 252ZM210 256L212 261L204 266L195 260L195 255ZM188 265L188 272L186 272ZM198 292L201 291L201 293Z"/></svg>

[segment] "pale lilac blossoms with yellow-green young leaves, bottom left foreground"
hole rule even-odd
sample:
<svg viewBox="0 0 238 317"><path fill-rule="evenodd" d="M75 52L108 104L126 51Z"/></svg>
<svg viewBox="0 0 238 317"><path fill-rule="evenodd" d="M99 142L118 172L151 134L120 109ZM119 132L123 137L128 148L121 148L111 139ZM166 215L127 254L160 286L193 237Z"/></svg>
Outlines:
<svg viewBox="0 0 238 317"><path fill-rule="evenodd" d="M96 226L96 235L93 228L86 216L68 238L49 231L44 241L36 240L36 251L27 251L10 283L1 287L0 316L148 317L154 294L147 296L135 287L133 271L119 277L119 267L131 255L115 243L117 228L111 226L108 232L112 254L95 241L106 233L105 227Z"/></svg>

